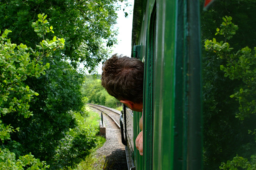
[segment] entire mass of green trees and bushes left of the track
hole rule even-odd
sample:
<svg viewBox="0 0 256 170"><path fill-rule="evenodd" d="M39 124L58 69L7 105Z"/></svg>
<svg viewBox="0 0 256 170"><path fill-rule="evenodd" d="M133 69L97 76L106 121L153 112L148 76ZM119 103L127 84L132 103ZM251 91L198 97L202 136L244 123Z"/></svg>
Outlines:
<svg viewBox="0 0 256 170"><path fill-rule="evenodd" d="M70 169L98 145L78 66L108 57L116 2L0 2L1 168Z"/></svg>

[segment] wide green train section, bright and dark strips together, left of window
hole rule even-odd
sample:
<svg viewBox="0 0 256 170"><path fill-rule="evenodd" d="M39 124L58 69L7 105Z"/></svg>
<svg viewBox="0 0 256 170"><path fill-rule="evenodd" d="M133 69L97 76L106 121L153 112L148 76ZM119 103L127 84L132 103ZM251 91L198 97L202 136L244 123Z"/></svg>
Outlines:
<svg viewBox="0 0 256 170"><path fill-rule="evenodd" d="M157 0L153 170L202 169L198 0Z"/></svg>

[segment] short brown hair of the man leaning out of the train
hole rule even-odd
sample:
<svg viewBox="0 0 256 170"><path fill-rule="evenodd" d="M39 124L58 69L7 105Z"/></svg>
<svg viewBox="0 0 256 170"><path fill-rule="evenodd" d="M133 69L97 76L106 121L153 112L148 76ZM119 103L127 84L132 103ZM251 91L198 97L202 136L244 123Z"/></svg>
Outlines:
<svg viewBox="0 0 256 170"><path fill-rule="evenodd" d="M102 66L101 85L117 100L143 102L144 63L114 54Z"/></svg>

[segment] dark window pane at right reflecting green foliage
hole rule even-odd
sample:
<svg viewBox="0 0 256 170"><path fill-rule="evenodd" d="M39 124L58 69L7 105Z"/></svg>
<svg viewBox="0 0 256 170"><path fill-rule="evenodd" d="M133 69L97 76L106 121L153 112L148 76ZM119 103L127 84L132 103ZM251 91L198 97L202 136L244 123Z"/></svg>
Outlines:
<svg viewBox="0 0 256 170"><path fill-rule="evenodd" d="M218 0L200 13L207 170L246 170L256 164L255 8L255 0Z"/></svg>

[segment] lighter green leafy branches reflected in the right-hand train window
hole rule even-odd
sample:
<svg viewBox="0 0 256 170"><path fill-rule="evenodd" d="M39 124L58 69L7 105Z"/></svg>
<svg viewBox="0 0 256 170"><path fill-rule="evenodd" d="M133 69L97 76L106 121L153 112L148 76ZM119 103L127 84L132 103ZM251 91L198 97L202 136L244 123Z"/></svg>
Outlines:
<svg viewBox="0 0 256 170"><path fill-rule="evenodd" d="M255 168L255 154L256 144L255 137L248 135L249 132L252 132L250 129L255 129L255 124L250 120L255 118L256 109L255 109L255 98L256 98L256 89L255 89L255 76L256 76L256 55L251 53L249 47L244 47L237 52L233 52L234 49L230 46L228 41L236 34L238 26L232 23L232 17L225 16L222 18L224 21L220 25L220 28L216 29L215 35L222 35L224 41L216 41L215 38L212 40L205 41L206 51L214 52L218 60L224 61L225 64L220 65L220 70L224 72L224 77L228 77L232 81L239 82L235 86L231 86L233 94L226 94L231 100L236 98L236 109L232 110L232 113L226 113L233 117L236 117L238 122L236 125L231 121L226 121L226 126L230 126L235 135L239 135L240 139L231 138L229 143L232 144L232 148L235 150L227 150L230 148L222 146L223 154L226 154L227 157L233 156L234 154L240 154L245 157L252 158L252 162L248 162L247 158L239 157L238 155L233 158L232 161L228 161L226 164L222 163L221 169L229 169L231 167L241 167L254 169ZM255 48L256 50L256 48ZM233 83L234 84L234 83ZM250 118L250 119L248 119ZM237 128L239 127L239 128ZM232 137L229 135L228 137ZM234 136L235 137L235 136ZM235 141L235 142L234 142ZM252 155L252 156L251 156Z"/></svg>

